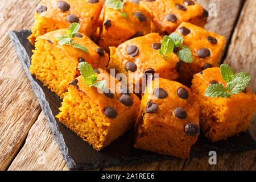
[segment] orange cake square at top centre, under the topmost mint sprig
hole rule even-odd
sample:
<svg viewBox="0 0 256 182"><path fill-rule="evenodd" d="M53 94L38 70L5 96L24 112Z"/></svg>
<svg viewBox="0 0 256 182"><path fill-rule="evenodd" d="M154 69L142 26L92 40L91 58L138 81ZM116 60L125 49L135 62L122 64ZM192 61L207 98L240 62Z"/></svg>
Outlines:
<svg viewBox="0 0 256 182"><path fill-rule="evenodd" d="M150 13L133 2L126 1L122 13L121 10L105 6L99 44L105 50L110 46L117 47L128 39L149 34L150 24Z"/></svg>

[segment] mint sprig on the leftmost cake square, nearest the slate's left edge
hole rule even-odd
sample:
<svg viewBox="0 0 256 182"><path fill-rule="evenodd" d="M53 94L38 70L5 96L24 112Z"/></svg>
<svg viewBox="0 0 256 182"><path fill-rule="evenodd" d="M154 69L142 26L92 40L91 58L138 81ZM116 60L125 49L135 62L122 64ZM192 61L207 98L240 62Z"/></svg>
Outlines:
<svg viewBox="0 0 256 182"><path fill-rule="evenodd" d="M85 51L85 52L89 52L88 49L86 49L86 47L75 43L72 39L72 38L75 38L79 29L80 29L80 24L79 23L72 23L68 27L68 32L67 32L68 35L61 35L61 36L57 37L57 39L59 41L59 45L60 46L67 45L67 46L71 46L71 47L74 47L74 48L77 48L77 49L81 49L82 51Z"/></svg>

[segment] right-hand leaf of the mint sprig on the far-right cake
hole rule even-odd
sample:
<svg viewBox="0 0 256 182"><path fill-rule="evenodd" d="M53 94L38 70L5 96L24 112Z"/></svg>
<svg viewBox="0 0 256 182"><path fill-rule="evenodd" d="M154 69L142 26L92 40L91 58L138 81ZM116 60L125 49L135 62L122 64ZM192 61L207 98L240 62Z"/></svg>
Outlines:
<svg viewBox="0 0 256 182"><path fill-rule="evenodd" d="M249 84L251 76L247 73L237 73L233 76L233 80L226 84L226 89L232 94L238 94Z"/></svg>

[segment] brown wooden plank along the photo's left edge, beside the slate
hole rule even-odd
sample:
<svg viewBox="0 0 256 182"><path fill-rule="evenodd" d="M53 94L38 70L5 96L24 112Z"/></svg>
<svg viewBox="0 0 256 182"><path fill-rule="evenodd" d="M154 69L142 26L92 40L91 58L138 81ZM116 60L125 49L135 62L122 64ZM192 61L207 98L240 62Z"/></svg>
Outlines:
<svg viewBox="0 0 256 182"><path fill-rule="evenodd" d="M30 28L38 1L0 2L0 170L13 160L40 112L7 32Z"/></svg>

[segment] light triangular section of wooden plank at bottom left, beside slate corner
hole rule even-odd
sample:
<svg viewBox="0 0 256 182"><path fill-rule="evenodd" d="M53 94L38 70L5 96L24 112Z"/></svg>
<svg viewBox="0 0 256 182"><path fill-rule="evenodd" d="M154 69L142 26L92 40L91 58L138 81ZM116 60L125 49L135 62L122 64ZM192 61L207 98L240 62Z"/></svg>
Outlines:
<svg viewBox="0 0 256 182"><path fill-rule="evenodd" d="M8 170L69 170L43 112Z"/></svg>

